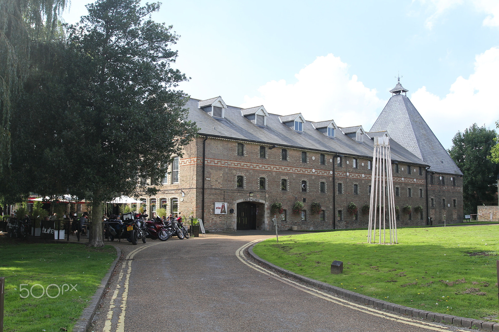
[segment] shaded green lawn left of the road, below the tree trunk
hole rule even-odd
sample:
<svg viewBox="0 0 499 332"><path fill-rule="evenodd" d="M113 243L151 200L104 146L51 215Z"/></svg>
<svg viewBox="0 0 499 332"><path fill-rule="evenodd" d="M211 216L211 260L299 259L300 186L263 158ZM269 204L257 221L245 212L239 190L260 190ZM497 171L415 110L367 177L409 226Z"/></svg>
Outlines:
<svg viewBox="0 0 499 332"><path fill-rule="evenodd" d="M4 332L71 331L83 309L94 295L101 279L116 258L116 249L106 246L90 249L78 244L43 244L11 241L0 237L0 277L5 277ZM64 286L56 297L57 287L51 286L42 295L40 286ZM72 289L70 285L77 285ZM68 290L66 290L68 288ZM64 330L66 329L66 330Z"/></svg>

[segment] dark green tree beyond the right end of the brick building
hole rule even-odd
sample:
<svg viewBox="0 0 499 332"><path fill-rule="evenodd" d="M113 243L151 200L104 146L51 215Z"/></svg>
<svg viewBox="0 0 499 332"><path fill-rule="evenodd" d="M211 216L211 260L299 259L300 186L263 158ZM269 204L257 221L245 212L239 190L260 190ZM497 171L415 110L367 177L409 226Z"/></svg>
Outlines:
<svg viewBox="0 0 499 332"><path fill-rule="evenodd" d="M473 124L452 139L449 154L463 172L463 200L466 213L477 213L477 205L488 204L497 192L499 167L488 157L496 132Z"/></svg>

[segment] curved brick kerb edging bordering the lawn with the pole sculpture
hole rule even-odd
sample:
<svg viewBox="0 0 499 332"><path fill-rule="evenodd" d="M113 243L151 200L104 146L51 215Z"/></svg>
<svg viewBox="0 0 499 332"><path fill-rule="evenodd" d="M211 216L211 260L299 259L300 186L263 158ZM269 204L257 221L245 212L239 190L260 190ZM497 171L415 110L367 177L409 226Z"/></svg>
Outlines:
<svg viewBox="0 0 499 332"><path fill-rule="evenodd" d="M283 269L277 265L274 265L274 264L267 262L266 260L260 258L258 255L256 255L253 252L253 246L254 246L254 244L248 248L248 253L250 254L250 256L252 258L257 260L261 264L268 266L272 270L276 270L282 274L285 274L286 276L292 277L294 279L297 279L297 280L302 281L306 284L315 286L317 288L335 293L336 295L343 296L343 297L350 299L352 301L360 302L360 303L363 303L366 305L371 305L373 307L384 309L387 311L391 311L391 312L394 312L397 314L412 316L414 318L420 318L420 319L445 323L445 324L454 325L454 326L461 326L464 328L475 327L477 329L482 329L485 331L497 331L497 332L499 332L499 323L484 322L484 321L475 320L472 318L457 317L457 316L440 314L440 313L432 313L432 312L429 312L426 310L409 308L409 307L405 307L402 305L398 305L398 304L386 302L383 300L371 298L369 296L358 294L358 293L355 293L352 291L348 291L346 289L332 286L332 285L329 285L327 283L323 283L323 282L315 280L315 279L307 278L307 277L302 276L300 274L296 274L296 273L291 272L289 270Z"/></svg>

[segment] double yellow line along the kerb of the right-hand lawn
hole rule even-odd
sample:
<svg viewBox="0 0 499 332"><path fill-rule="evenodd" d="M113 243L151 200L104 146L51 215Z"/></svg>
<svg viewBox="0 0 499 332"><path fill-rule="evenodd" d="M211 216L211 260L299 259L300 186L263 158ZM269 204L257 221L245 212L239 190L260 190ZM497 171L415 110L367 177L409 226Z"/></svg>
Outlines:
<svg viewBox="0 0 499 332"><path fill-rule="evenodd" d="M264 269L264 268L260 267L259 265L253 263L250 260L249 257L246 257L246 255L244 253L244 251L246 249L248 249L251 245L253 245L256 242L263 241L263 240L265 240L265 239L259 239L259 240L251 241L251 242L245 244L244 246L242 246L241 248L239 248L236 251L236 255L238 256L238 258L243 263L245 263L246 265L248 265L250 268L258 271L259 273L262 273L262 274L264 274L264 275L266 275L268 277L271 277L271 278L273 278L275 280L278 280L278 281L280 281L280 282L282 282L282 283L284 283L286 285L294 287L294 288L296 288L296 289L298 289L298 290L300 290L302 292L308 293L308 294L313 295L313 296L315 296L317 298L320 298L320 299L323 299L323 300L326 300L326 301L332 302L334 304L337 304L337 305L340 305L340 306L343 306L343 307L347 307L347 308L350 308L350 309L353 309L353 310L356 310L356 311L360 311L360 312L365 313L365 314L369 314L369 315L376 316L376 317L379 317L379 318L384 318L384 319L387 319L387 320L390 320L390 321L399 322L399 323L402 323L402 324L405 324L405 325L412 325L412 326L415 326L415 327L418 327L418 328L422 328L422 329L426 329L426 330L441 331L441 332L453 331L453 330L449 330L448 327L444 327L444 326L432 324L430 322L423 322L423 321L419 321L419 320L414 320L414 319L411 319L411 318L407 318L407 317L403 317L403 316L398 316L398 315L387 313L387 312L384 312L384 311L381 311L381 310L377 310L377 309L374 309L374 308L369 308L369 307L363 306L361 304L352 303L352 302L343 300L341 298L332 296L332 295L330 295L328 293L319 291L318 289L314 289L314 288L308 287L306 285L302 285L300 283L297 283L297 282L295 282L293 280L283 278L280 275L278 275L278 274L276 274L276 273L274 273L274 272L272 272L270 270ZM460 330L460 329L456 329L455 331L466 332L465 330Z"/></svg>

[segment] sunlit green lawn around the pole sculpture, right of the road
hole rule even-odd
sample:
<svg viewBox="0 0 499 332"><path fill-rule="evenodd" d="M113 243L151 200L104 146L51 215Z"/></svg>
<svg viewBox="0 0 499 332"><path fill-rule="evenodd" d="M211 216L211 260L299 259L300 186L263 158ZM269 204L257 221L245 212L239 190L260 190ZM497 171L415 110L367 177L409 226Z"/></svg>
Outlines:
<svg viewBox="0 0 499 332"><path fill-rule="evenodd" d="M497 225L403 228L399 244L380 245L366 242L367 231L351 230L281 236L278 244L268 239L253 251L287 270L360 294L483 319L498 315L498 235ZM333 260L343 261L343 274L330 274ZM462 294L470 288L486 295Z"/></svg>

